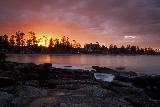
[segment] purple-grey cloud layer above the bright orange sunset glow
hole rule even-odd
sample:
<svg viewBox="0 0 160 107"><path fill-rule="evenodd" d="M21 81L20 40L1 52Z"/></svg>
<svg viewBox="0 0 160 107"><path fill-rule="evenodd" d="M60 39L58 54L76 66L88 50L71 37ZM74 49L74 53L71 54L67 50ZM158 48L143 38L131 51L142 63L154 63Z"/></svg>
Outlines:
<svg viewBox="0 0 160 107"><path fill-rule="evenodd" d="M159 0L1 0L0 25L58 23L105 37L160 38ZM18 26L18 25L17 25ZM29 26L29 25L28 25ZM111 37L112 38L112 37ZM122 38L122 37L121 37ZM154 39L152 39L154 41ZM156 40L157 42L157 40ZM159 41L160 42L160 41ZM157 43L158 44L158 43ZM158 44L160 46L160 43Z"/></svg>

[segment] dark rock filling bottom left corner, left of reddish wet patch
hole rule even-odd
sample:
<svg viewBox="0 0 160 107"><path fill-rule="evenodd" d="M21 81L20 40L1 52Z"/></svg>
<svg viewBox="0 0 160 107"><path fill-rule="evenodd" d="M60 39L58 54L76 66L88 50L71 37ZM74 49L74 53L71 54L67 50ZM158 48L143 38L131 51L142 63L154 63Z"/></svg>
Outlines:
<svg viewBox="0 0 160 107"><path fill-rule="evenodd" d="M0 107L24 107L35 98L45 97L48 91L31 86L16 86L0 89Z"/></svg>

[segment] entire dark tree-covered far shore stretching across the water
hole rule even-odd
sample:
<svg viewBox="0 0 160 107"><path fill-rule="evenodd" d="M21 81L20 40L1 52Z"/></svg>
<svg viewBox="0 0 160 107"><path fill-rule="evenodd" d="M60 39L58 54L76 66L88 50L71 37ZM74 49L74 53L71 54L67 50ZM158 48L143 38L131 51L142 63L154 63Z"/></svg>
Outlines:
<svg viewBox="0 0 160 107"><path fill-rule="evenodd" d="M83 47L76 40L70 40L69 37L62 36L58 38L48 38L43 36L37 38L34 32L28 32L30 37L24 38L25 33L16 32L15 35L0 36L0 52L10 54L129 54L129 55L160 55L159 49L140 48L139 46L111 44L109 47L100 45L99 42L88 43Z"/></svg>

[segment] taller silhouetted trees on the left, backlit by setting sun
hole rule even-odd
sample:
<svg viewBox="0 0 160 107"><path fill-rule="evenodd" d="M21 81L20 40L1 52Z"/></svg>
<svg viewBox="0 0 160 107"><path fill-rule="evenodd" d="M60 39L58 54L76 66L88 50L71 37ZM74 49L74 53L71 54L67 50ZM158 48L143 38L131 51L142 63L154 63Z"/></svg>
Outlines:
<svg viewBox="0 0 160 107"><path fill-rule="evenodd" d="M0 50L9 53L71 53L77 52L81 45L76 40L70 40L69 37L63 36L61 39L48 38L42 36L37 38L34 32L28 32L29 37L23 32L16 32L15 35L0 36Z"/></svg>

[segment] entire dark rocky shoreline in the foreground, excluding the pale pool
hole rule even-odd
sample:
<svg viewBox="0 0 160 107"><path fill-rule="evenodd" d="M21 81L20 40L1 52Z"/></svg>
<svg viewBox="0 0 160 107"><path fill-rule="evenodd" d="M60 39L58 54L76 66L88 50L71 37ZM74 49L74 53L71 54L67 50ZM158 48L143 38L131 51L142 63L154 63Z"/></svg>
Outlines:
<svg viewBox="0 0 160 107"><path fill-rule="evenodd" d="M0 62L0 107L159 107L160 75L92 68ZM96 79L95 73L114 79Z"/></svg>

